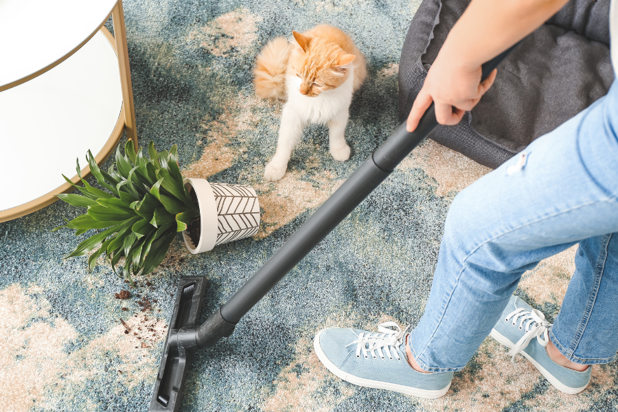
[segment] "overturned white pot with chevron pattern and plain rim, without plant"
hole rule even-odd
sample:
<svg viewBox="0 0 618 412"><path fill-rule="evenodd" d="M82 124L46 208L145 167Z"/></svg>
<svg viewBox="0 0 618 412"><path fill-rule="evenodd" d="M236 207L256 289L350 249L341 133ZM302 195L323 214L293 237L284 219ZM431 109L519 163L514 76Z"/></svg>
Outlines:
<svg viewBox="0 0 618 412"><path fill-rule="evenodd" d="M209 251L218 244L258 233L260 203L253 187L193 178L185 178L183 183L200 209L200 218L183 231L191 253Z"/></svg>

